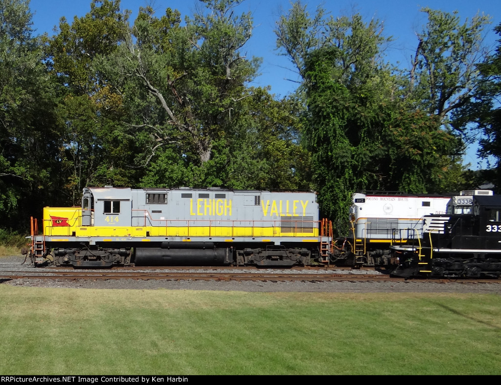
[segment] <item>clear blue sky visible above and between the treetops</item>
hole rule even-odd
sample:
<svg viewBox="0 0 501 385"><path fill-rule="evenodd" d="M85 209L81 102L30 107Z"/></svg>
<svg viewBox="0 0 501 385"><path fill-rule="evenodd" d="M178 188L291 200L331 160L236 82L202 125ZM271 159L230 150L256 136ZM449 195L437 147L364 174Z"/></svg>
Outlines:
<svg viewBox="0 0 501 385"><path fill-rule="evenodd" d="M30 8L34 12L33 22L37 34L48 32L52 34L53 27L59 19L65 16L71 22L75 15L83 16L90 10L91 0L31 0ZM422 30L426 23L426 14L421 12L422 7L440 9L447 12L458 11L461 23L478 12L492 17L492 24L486 30L485 44L493 45L499 38L492 28L501 22L501 0L326 0L303 1L307 4L310 14L315 12L318 5L322 5L333 16L350 15L359 12L366 20L373 17L384 21L384 34L393 36L394 42L388 47L387 59L393 64L399 61L409 67L410 56L415 52L417 45L416 32ZM165 8L171 7L181 12L181 17L191 15L196 6L203 6L197 0L122 0L121 7L132 11L131 19L137 15L140 6L152 5L158 16L164 14ZM254 16L254 31L252 39L247 43L247 56L263 58L261 76L254 85L271 85L272 92L277 95L286 95L296 88L296 83L288 79L297 79L290 61L278 55L276 36L273 30L275 22L282 13L290 8L289 0L245 0L237 11L250 11ZM475 151L470 150L465 162L475 166L477 159ZM476 168L476 167L474 167Z"/></svg>

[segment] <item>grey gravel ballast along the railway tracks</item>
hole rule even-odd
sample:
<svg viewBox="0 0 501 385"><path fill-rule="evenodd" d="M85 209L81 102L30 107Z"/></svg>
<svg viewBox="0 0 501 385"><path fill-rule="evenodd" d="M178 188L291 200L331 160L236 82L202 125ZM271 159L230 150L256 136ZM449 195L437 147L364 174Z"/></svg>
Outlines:
<svg viewBox="0 0 501 385"><path fill-rule="evenodd" d="M49 269L35 268L25 261L24 256L0 257L0 275L10 275L8 271L22 271L24 275L41 273L51 274ZM70 269L72 270L72 269ZM85 271L85 270L81 270ZM169 270L161 270L167 272ZM179 270L175 270L179 272ZM204 270L197 269L198 272ZM214 273L217 270L207 270ZM238 270L242 272L241 270ZM255 270L254 270L255 271ZM326 270L328 271L328 270ZM224 272L231 272L224 270ZM284 270L267 269L262 272L284 272ZM287 272L291 272L287 270ZM297 271L295 271L297 272ZM329 270L331 273L336 271ZM346 271L338 271L346 273ZM358 274L378 274L377 271L359 270ZM305 275L307 273L305 272ZM302 292L449 292L449 293L490 293L501 295L501 280L492 283L473 283L465 281L422 282L407 280L405 282L357 282L357 281L213 281L213 280L170 280L170 279L0 279L1 284L25 287L61 287L61 288L93 288L93 289L170 289L170 290L222 290L222 291L302 291Z"/></svg>

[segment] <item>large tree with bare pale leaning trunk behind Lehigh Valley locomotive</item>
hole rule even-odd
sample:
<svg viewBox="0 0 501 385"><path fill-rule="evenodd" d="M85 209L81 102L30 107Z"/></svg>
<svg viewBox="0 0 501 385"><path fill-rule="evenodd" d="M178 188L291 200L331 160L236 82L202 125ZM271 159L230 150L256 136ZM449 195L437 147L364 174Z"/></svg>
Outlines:
<svg viewBox="0 0 501 385"><path fill-rule="evenodd" d="M127 44L105 58L103 67L132 112L131 127L147 146L143 165L161 159L191 165L199 174L192 183L218 183L202 176L204 164L230 136L236 103L250 96L245 84L259 64L242 53L252 17L234 14L240 2L205 0L206 11L186 18L185 27L170 8L160 18L151 7L140 8Z"/></svg>

